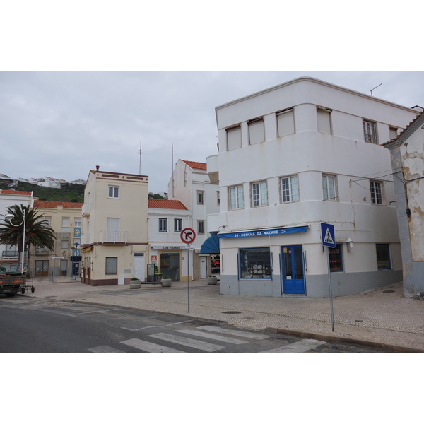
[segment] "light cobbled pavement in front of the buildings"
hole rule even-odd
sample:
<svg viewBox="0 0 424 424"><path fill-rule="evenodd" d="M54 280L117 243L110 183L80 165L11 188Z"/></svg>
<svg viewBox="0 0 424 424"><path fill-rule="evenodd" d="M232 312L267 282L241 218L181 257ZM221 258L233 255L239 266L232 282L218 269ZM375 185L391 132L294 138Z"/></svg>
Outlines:
<svg viewBox="0 0 424 424"><path fill-rule="evenodd" d="M273 331L329 342L399 353L424 353L424 301L404 298L396 283L360 295L333 298L334 331L329 298L301 296L264 298L220 295L219 283L206 279L160 284L93 287L71 277L33 278L35 292L24 297L64 302L126 307L176 314L211 322L225 322L244 329Z"/></svg>

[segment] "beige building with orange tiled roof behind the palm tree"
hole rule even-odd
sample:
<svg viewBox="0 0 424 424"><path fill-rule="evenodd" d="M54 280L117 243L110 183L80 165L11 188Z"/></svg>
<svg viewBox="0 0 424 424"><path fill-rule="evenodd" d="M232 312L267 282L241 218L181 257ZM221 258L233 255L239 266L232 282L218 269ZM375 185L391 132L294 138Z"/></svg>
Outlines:
<svg viewBox="0 0 424 424"><path fill-rule="evenodd" d="M67 201L35 200L34 208L42 214L49 227L54 230L54 250L30 249L30 275L36 277L72 276L73 256L79 257L81 247L81 208L83 204ZM60 259L51 259L53 257Z"/></svg>

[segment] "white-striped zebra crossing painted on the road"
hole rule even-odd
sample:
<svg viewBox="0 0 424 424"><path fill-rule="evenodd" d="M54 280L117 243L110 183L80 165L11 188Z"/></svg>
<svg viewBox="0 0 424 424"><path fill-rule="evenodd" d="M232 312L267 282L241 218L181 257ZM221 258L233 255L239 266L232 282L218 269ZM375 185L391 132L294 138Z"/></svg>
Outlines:
<svg viewBox="0 0 424 424"><path fill-rule="evenodd" d="M134 349L131 352L136 351L139 353L192 353L193 349L204 353L219 353L227 348L228 345L242 346L248 343L264 341L270 337L268 334L202 325L197 326L196 329L161 331L155 334L144 334L143 338L129 338L119 343L122 348L96 346L89 348L88 351L91 353L129 353L124 350L125 346L128 346ZM282 341L282 343L284 342ZM257 353L305 353L325 343L324 341L303 339L294 343L285 342L285 344L277 348ZM172 345L172 347L169 345Z"/></svg>

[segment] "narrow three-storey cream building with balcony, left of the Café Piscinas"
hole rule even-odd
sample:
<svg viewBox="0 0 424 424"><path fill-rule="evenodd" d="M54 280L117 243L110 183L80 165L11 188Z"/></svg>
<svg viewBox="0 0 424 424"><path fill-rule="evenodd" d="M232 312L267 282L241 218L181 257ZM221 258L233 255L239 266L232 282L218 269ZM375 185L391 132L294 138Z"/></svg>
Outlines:
<svg viewBox="0 0 424 424"><path fill-rule="evenodd" d="M84 192L81 282L129 284L146 278L148 177L91 170Z"/></svg>

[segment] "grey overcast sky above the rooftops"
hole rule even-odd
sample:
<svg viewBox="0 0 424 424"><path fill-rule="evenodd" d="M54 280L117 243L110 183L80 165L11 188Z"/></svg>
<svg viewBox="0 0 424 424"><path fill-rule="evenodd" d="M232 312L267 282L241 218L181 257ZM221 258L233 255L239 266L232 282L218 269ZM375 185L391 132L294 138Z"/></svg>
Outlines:
<svg viewBox="0 0 424 424"><path fill-rule="evenodd" d="M3 71L0 173L139 174L141 138L141 174L167 192L172 145L174 163L217 153L216 106L300 76L424 106L423 71Z"/></svg>

